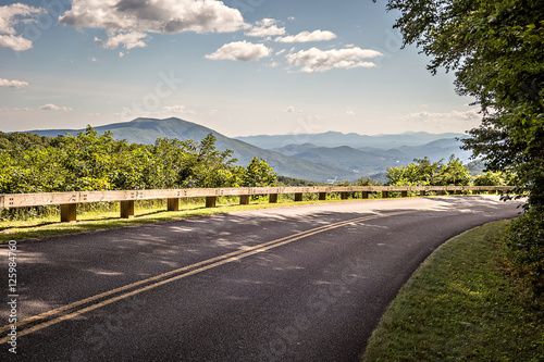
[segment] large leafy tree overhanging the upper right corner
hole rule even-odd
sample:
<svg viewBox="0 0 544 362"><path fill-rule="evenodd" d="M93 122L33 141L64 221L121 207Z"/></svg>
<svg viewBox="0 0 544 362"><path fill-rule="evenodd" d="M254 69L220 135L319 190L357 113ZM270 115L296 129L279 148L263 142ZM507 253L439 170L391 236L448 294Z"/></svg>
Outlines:
<svg viewBox="0 0 544 362"><path fill-rule="evenodd" d="M455 72L459 95L480 104L482 123L463 140L490 171L511 171L544 210L544 1L388 0L405 45Z"/></svg>

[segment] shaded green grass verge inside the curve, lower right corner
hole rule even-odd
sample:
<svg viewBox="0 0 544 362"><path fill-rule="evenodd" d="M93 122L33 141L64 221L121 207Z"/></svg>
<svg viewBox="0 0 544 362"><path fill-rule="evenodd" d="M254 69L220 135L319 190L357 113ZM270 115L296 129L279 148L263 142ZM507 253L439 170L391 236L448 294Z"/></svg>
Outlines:
<svg viewBox="0 0 544 362"><path fill-rule="evenodd" d="M502 270L508 223L437 249L388 307L362 361L544 361L544 301Z"/></svg>

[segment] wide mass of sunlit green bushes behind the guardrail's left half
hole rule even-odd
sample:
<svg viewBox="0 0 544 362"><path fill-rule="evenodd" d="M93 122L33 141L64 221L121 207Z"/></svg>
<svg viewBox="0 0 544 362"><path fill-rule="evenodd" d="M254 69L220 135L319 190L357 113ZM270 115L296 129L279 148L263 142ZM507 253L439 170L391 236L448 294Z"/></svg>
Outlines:
<svg viewBox="0 0 544 362"><path fill-rule="evenodd" d="M269 186L275 174L263 161L236 166L233 151L200 142L159 138L127 143L88 126L77 135L0 134L0 194ZM14 212L12 212L14 213ZM5 214L5 211L4 211Z"/></svg>

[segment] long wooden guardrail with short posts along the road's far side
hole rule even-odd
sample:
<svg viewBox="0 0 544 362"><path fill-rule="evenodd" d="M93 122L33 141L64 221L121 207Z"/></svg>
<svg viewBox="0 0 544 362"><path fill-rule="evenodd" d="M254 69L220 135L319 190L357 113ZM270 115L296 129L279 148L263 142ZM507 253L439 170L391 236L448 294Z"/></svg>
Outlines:
<svg viewBox="0 0 544 362"><path fill-rule="evenodd" d="M60 205L61 222L75 222L78 203L120 202L121 217L134 217L134 201L168 199L168 211L180 210L180 198L206 197L206 207L215 208L220 196L238 196L240 204L248 204L251 195L269 195L269 202L277 202L277 195L295 194L295 201L302 201L304 194L319 194L319 200L326 200L330 192L341 192L347 199L349 192L361 192L368 199L370 192L382 192L387 198L390 192L401 192L407 197L409 191L419 191L420 196L434 191L438 196L446 192L461 195L466 191L496 194L512 190L509 186L317 186L317 187L246 187L246 188L187 188L171 190L127 190L127 191L76 191L50 194L10 194L0 195L0 208L24 208L41 205Z"/></svg>

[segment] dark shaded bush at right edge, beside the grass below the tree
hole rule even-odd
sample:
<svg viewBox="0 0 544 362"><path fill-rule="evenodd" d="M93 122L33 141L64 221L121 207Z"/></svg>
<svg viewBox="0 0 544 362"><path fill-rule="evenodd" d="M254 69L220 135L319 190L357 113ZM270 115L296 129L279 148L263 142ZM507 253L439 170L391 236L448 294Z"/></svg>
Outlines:
<svg viewBox="0 0 544 362"><path fill-rule="evenodd" d="M544 216L530 209L515 220L505 235L507 263L514 275L544 291Z"/></svg>

